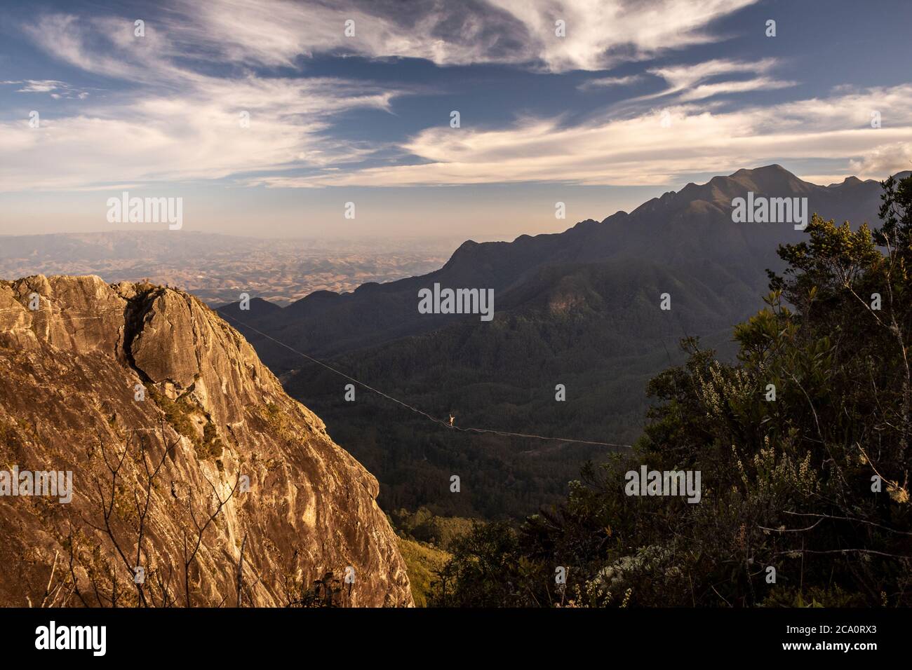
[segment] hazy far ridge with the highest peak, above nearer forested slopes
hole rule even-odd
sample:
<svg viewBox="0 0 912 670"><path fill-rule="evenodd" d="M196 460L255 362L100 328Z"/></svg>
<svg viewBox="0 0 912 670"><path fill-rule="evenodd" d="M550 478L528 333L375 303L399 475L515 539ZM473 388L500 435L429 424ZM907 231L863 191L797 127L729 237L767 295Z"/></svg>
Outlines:
<svg viewBox="0 0 912 670"><path fill-rule="evenodd" d="M241 324L303 345L314 356L336 356L427 333L457 318L418 314L413 296L420 288L433 283L483 286L493 288L501 300L500 296L523 283L535 268L548 263L600 263L633 257L685 269L695 258L709 257L729 267L739 281L759 277L765 282L764 271L779 266L777 246L801 241L803 232L794 231L791 224L732 222L731 198L750 190L757 195L807 197L811 211L853 222L870 221L876 215L880 193L874 180L845 180L830 188L800 180L777 164L741 169L705 184L689 183L680 191L668 191L629 213L617 211L601 222L577 222L564 232L520 235L513 242L467 240L431 273L364 284L350 293L310 294L269 314L241 312L237 303L218 309ZM752 285L759 288L755 281ZM295 366L294 356L282 347L253 331L247 335L276 372Z"/></svg>

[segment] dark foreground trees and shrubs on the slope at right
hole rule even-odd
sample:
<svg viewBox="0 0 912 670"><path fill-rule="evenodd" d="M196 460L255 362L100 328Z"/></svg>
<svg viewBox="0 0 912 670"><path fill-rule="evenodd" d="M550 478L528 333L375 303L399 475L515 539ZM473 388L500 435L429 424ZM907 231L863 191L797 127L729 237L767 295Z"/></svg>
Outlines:
<svg viewBox="0 0 912 670"><path fill-rule="evenodd" d="M682 339L635 450L452 541L430 604L912 604L912 178L883 188L878 230L814 216L780 247L736 360ZM643 464L699 470L700 502L627 496Z"/></svg>

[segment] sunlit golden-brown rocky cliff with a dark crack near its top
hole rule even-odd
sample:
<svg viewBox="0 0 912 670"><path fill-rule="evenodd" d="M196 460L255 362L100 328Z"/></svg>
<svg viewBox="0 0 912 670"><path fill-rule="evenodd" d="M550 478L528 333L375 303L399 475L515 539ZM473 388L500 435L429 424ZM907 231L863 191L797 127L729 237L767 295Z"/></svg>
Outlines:
<svg viewBox="0 0 912 670"><path fill-rule="evenodd" d="M170 288L0 282L0 493L2 605L412 603L377 480Z"/></svg>

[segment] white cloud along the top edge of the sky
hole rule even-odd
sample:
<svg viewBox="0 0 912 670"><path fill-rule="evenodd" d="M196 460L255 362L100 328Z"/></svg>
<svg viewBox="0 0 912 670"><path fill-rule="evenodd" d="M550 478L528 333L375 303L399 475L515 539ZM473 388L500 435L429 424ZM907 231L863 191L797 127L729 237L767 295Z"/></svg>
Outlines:
<svg viewBox="0 0 912 670"><path fill-rule="evenodd" d="M757 0L414 0L398 3L181 0L169 29L234 62L287 66L349 53L441 66L504 63L551 72L600 70L715 41L708 27ZM355 36L345 36L347 20ZM566 36L555 35L564 20ZM154 29L152 22L147 24Z"/></svg>

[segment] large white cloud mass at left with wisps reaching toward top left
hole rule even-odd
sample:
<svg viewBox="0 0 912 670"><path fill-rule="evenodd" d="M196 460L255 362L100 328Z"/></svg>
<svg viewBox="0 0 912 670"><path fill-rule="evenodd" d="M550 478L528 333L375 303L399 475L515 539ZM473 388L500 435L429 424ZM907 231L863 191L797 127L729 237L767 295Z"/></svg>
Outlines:
<svg viewBox="0 0 912 670"><path fill-rule="evenodd" d="M202 74L177 65L180 49L171 36L147 26L147 36L136 38L132 22L50 15L30 28L56 57L117 77L129 88L103 102L93 98L78 116L41 112L36 129L27 119L0 123L0 190L102 188L344 165L376 148L329 137L334 116L388 109L400 94L333 77ZM67 96L72 91L62 82L28 86ZM247 128L242 112L249 113Z"/></svg>

